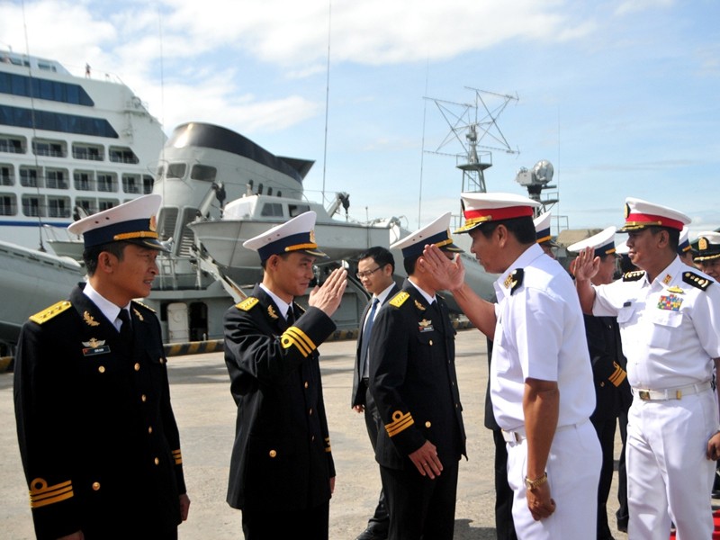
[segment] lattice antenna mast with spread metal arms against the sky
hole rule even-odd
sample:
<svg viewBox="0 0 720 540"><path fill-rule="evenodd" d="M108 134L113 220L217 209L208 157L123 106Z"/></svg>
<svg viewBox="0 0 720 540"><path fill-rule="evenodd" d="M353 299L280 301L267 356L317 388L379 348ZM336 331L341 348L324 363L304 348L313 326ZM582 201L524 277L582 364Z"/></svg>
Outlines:
<svg viewBox="0 0 720 540"><path fill-rule="evenodd" d="M485 193L485 170L492 166L492 150L506 154L519 154L519 149L510 148L508 139L500 130L498 117L508 104L517 102L517 95L496 94L465 86L475 94L473 103L455 103L442 99L432 100L443 116L450 131L434 150L433 154L455 157L456 167L463 171L463 192ZM493 106L491 106L491 102ZM453 154L446 148L460 143L463 153Z"/></svg>

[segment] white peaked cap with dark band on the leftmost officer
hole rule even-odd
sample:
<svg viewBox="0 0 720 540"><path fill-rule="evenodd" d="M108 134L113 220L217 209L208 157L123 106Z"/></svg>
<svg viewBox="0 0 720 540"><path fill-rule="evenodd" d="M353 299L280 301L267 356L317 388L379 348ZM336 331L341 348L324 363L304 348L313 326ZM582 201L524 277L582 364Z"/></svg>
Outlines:
<svg viewBox="0 0 720 540"><path fill-rule="evenodd" d="M85 247L124 241L167 251L158 239L155 219L162 202L162 196L157 193L143 195L77 220L67 227L67 231L70 234L83 235Z"/></svg>

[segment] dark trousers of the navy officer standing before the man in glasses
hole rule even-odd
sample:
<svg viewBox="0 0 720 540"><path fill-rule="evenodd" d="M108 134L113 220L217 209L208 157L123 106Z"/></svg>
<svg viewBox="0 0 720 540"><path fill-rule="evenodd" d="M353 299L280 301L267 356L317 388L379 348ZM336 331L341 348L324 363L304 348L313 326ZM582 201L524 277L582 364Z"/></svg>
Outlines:
<svg viewBox="0 0 720 540"><path fill-rule="evenodd" d="M403 471L380 467L390 511L388 540L453 540L458 463L443 464L435 480L408 463Z"/></svg>

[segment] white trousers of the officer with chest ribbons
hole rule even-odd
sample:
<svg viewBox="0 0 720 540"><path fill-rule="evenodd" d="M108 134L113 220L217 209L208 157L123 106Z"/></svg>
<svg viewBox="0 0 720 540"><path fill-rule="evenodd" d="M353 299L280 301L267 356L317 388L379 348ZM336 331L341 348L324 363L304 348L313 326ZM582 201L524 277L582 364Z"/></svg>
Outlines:
<svg viewBox="0 0 720 540"><path fill-rule="evenodd" d="M712 390L681 400L635 397L627 416L629 540L677 540L713 536L711 493L715 462L707 441L718 426Z"/></svg>

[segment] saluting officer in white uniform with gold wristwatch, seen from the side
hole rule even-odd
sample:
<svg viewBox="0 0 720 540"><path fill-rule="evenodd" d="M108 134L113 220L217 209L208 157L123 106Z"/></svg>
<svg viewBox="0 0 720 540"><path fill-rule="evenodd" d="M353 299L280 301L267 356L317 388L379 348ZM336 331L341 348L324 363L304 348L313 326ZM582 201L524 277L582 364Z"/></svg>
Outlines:
<svg viewBox="0 0 720 540"><path fill-rule="evenodd" d="M464 283L459 257L426 247L424 266L476 328L493 339L491 401L508 445L518 538L579 540L596 533L601 450L590 424L595 390L572 278L536 243L538 203L512 193L463 193L464 227L485 270L500 274L497 304Z"/></svg>

